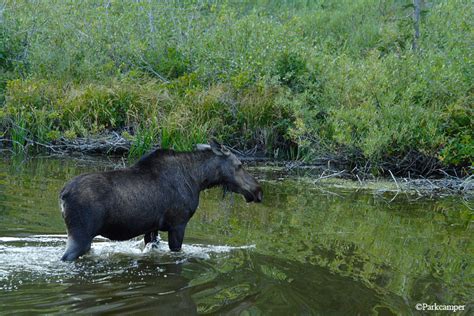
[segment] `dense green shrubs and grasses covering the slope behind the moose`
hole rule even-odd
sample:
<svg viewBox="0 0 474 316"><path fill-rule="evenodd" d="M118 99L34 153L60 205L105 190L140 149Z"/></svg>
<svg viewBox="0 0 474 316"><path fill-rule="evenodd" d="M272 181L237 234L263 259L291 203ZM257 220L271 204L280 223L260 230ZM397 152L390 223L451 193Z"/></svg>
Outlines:
<svg viewBox="0 0 474 316"><path fill-rule="evenodd" d="M413 49L411 3L5 1L0 133L472 167L474 7L424 1Z"/></svg>

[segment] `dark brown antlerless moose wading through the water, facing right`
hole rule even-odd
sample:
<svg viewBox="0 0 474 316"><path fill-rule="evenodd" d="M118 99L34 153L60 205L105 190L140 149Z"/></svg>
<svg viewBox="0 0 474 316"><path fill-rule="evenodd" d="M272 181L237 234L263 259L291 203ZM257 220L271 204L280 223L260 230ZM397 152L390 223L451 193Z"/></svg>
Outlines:
<svg viewBox="0 0 474 316"><path fill-rule="evenodd" d="M98 235L128 240L144 234L147 244L167 231L170 250L180 251L200 192L214 186L242 194L247 202L262 201L259 183L214 139L195 151L158 149L129 168L77 176L59 195L68 234L61 260L88 252Z"/></svg>

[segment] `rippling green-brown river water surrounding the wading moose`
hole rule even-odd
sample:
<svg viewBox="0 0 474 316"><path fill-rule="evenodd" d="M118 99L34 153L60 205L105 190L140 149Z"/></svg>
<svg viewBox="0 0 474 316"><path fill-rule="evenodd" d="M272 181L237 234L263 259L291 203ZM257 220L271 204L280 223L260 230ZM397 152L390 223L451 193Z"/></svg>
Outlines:
<svg viewBox="0 0 474 316"><path fill-rule="evenodd" d="M472 201L313 184L251 168L262 204L213 189L181 253L97 238L59 261L57 195L106 159L0 158L0 314L417 314L472 304ZM471 203L471 205L469 205ZM469 314L466 311L456 315Z"/></svg>

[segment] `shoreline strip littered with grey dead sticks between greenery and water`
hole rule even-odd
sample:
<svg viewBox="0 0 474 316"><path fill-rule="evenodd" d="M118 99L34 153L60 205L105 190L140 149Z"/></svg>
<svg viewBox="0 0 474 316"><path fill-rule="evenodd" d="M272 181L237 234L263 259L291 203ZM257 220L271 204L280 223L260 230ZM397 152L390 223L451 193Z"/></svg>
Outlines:
<svg viewBox="0 0 474 316"><path fill-rule="evenodd" d="M12 149L12 142L5 138L0 138L0 154L15 154ZM111 168L123 168L127 165L126 154L130 150L132 142L122 135L112 132L106 135L93 138L76 138L73 140L61 138L57 141L45 144L28 140L24 145L24 153L28 153L29 148L36 149L35 154L25 155L25 157L38 157L46 153L48 157L71 158L78 161L97 161L107 157L107 164ZM156 148L156 147L155 147ZM256 167L259 170L269 170L280 173L282 176L298 175L312 179L310 181L321 185L343 185L354 188L372 188L377 183L379 191L410 192L418 195L444 195L459 194L463 196L474 195L474 169L463 168L442 168L436 166L429 174L423 175L417 172L403 172L397 169L397 164L393 164L393 171L390 169L391 163L385 166L378 166L377 175L374 175L374 168L370 163L349 161L347 157L323 156L317 157L311 163L301 161L282 161L265 156L256 149L239 151L230 148L245 164ZM20 153L21 154L21 153ZM416 162L412 162L415 164ZM355 165L355 166L354 166ZM383 164L382 164L383 165ZM433 166L431 166L433 168ZM459 173L461 173L461 175ZM339 180L352 181L352 184L341 184Z"/></svg>

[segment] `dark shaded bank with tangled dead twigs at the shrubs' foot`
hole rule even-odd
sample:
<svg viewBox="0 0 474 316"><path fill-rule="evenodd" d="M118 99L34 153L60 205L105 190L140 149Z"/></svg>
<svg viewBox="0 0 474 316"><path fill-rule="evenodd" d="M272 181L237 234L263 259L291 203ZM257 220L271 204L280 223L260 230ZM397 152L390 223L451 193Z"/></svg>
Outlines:
<svg viewBox="0 0 474 316"><path fill-rule="evenodd" d="M124 137L123 134L112 131L91 137L76 137L69 139L60 137L51 142L39 142L26 137L25 143L0 137L0 152L11 152L13 154L28 153L51 153L54 155L119 155L119 156L140 156L147 152L146 146L134 145L133 140ZM161 143L158 139L156 144ZM229 149L241 160L248 162L258 162L270 166L283 166L288 170L308 169L323 172L338 172L341 177L352 178L354 180L373 178L402 177L408 179L416 178L459 178L474 174L474 167L471 165L447 166L437 157L428 156L417 150L410 150L403 155L384 157L382 161L373 162L357 150L340 149L337 153L322 153L314 157L306 157L302 160L281 160L278 150L267 152L263 148L255 146L242 150L239 146L227 144ZM152 146L150 150L158 148ZM130 155L132 153L132 155ZM462 181L461 181L462 182ZM445 185L442 185L445 186ZM451 186L451 185L448 185Z"/></svg>

